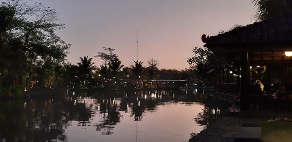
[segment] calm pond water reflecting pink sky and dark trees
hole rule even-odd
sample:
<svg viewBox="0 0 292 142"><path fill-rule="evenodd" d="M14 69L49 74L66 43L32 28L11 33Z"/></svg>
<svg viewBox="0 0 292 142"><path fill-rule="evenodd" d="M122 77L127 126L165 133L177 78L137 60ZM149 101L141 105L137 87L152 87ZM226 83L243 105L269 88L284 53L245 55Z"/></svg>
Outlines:
<svg viewBox="0 0 292 142"><path fill-rule="evenodd" d="M0 101L0 142L187 142L223 115L218 103L193 90Z"/></svg>

